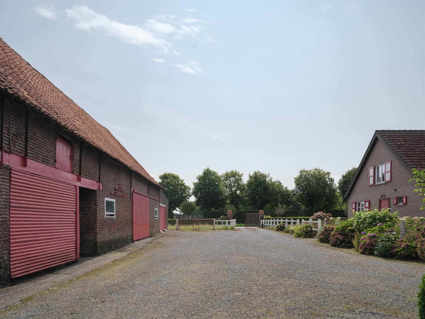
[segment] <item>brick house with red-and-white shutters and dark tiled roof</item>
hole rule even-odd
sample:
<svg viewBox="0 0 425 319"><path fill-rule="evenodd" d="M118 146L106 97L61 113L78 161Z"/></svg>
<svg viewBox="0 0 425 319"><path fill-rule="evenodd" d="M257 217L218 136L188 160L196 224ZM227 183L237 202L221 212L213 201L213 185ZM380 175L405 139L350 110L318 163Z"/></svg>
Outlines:
<svg viewBox="0 0 425 319"><path fill-rule="evenodd" d="M425 130L375 131L345 194L348 217L369 208L425 216L415 183L408 182L412 168L425 168Z"/></svg>

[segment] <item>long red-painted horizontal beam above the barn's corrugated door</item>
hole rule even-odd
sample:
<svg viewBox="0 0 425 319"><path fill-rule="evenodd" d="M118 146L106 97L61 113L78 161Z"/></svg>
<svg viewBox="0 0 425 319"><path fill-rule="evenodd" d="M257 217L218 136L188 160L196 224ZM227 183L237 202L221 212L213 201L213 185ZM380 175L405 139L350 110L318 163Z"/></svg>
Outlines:
<svg viewBox="0 0 425 319"><path fill-rule="evenodd" d="M1 162L11 168L17 168L21 171L26 171L32 174L56 179L68 184L94 189L96 191L102 191L102 183L96 182L94 180L79 175L74 175L65 171L61 171L60 169L16 154L8 154L6 152L3 152L3 154L1 155Z"/></svg>

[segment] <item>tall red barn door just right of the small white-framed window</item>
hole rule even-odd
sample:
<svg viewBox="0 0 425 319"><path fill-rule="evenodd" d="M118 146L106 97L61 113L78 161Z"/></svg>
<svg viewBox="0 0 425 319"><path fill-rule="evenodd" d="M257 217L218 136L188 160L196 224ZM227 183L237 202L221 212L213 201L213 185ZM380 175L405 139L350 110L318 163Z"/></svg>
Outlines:
<svg viewBox="0 0 425 319"><path fill-rule="evenodd" d="M149 198L133 193L133 241L149 237Z"/></svg>

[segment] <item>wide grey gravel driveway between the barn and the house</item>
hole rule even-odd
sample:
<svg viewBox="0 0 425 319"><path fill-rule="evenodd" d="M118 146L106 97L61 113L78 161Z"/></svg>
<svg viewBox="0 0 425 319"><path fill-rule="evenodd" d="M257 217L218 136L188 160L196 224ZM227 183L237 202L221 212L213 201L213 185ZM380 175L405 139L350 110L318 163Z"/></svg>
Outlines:
<svg viewBox="0 0 425 319"><path fill-rule="evenodd" d="M425 264L266 229L169 231L5 318L417 318Z"/></svg>

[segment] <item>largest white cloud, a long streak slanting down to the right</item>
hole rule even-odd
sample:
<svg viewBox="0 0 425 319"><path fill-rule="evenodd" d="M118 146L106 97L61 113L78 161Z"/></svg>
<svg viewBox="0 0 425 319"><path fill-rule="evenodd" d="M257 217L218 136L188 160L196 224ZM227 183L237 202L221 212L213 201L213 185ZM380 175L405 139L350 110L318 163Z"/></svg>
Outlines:
<svg viewBox="0 0 425 319"><path fill-rule="evenodd" d="M131 44L151 44L162 53L167 53L173 46L164 39L155 37L152 33L138 26L120 23L109 19L104 14L99 14L87 6L76 5L65 10L68 18L74 19L74 25L85 31L98 30L105 35L118 37L120 40Z"/></svg>

